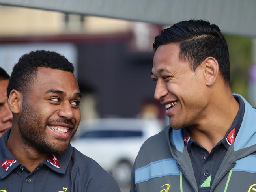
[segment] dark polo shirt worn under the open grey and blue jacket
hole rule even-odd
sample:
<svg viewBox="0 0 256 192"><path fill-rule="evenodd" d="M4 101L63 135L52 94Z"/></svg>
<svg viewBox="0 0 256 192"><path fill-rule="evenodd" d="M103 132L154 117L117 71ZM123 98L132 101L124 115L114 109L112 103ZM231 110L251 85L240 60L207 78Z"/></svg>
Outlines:
<svg viewBox="0 0 256 192"><path fill-rule="evenodd" d="M196 183L198 185L198 192L208 192L211 189L213 179L220 167L223 158L226 155L230 145L235 141L235 137L239 131L243 121L245 112L245 103L240 97L234 96L239 103L239 110L231 125L226 132L226 135L220 140L209 153L196 140L193 140L189 135L189 130L184 129L183 136L185 146L189 152L189 156L194 169Z"/></svg>

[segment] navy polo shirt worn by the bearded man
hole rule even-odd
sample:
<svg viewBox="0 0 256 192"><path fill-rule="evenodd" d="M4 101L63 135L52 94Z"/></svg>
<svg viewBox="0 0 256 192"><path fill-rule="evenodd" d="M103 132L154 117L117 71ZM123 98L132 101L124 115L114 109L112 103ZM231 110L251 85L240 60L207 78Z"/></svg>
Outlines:
<svg viewBox="0 0 256 192"><path fill-rule="evenodd" d="M120 192L97 162L71 147L50 155L30 172L6 147L10 130L0 138L0 191L2 192Z"/></svg>

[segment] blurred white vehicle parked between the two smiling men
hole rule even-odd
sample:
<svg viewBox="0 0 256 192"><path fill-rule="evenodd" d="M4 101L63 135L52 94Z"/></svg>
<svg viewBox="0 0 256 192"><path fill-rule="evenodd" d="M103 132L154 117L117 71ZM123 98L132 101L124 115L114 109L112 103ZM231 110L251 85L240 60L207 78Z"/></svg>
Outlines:
<svg viewBox="0 0 256 192"><path fill-rule="evenodd" d="M80 125L71 145L97 161L120 184L129 183L133 162L143 142L163 129L159 120L96 119Z"/></svg>

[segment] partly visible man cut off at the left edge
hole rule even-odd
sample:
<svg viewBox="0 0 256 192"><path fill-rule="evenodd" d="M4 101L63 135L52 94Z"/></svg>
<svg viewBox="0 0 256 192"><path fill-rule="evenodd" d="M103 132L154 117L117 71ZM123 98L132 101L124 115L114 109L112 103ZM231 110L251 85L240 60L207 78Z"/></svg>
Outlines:
<svg viewBox="0 0 256 192"><path fill-rule="evenodd" d="M7 86L10 76L0 67L0 137L11 127L13 114L8 106Z"/></svg>

